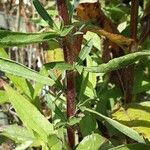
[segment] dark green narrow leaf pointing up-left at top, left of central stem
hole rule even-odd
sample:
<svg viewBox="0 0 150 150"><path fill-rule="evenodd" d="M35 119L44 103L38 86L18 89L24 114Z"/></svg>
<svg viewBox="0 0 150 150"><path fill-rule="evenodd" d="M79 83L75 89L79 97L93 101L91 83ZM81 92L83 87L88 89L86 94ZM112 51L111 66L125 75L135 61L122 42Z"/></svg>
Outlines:
<svg viewBox="0 0 150 150"><path fill-rule="evenodd" d="M47 11L44 9L44 7L41 5L39 0L33 0L33 5L36 8L39 15L49 24L51 28L54 26L54 21L50 17L50 15L47 13Z"/></svg>

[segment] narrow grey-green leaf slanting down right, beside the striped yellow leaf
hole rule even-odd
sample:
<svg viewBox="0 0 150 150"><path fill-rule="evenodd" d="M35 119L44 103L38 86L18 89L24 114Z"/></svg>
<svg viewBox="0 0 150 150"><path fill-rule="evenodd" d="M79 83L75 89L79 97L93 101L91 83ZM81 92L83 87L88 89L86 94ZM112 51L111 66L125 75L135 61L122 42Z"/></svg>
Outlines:
<svg viewBox="0 0 150 150"><path fill-rule="evenodd" d="M138 132L136 132L135 130L109 118L109 117L106 117L94 110L91 110L91 109L88 109L86 107L81 107L81 110L83 111L88 111L88 112L91 112L93 114L96 114L98 115L100 118L104 119L105 121L107 121L110 125L112 125L114 128L116 128L117 130L119 130L120 132L122 132L123 134L127 135L128 137L134 139L135 141L138 141L139 143L145 143L145 140L143 139L142 136L140 136L138 134Z"/></svg>

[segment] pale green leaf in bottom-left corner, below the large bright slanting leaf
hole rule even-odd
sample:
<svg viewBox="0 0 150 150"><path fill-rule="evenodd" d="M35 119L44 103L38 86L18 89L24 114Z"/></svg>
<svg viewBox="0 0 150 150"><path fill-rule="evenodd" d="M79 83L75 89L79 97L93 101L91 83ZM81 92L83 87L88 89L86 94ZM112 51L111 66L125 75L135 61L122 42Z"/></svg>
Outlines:
<svg viewBox="0 0 150 150"><path fill-rule="evenodd" d="M25 127L18 125L8 125L0 127L0 135L4 135L16 143L22 143L25 141L33 141L35 137Z"/></svg>

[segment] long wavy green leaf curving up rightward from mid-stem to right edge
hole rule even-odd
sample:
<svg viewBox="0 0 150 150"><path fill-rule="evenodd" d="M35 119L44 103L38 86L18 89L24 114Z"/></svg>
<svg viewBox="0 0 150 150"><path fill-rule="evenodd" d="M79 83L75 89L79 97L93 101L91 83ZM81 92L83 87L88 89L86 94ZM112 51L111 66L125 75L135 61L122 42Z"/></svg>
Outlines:
<svg viewBox="0 0 150 150"><path fill-rule="evenodd" d="M149 56L149 55L150 55L149 51L135 52L119 58L114 58L110 60L108 63L101 64L96 67L84 67L84 70L88 72L95 72L95 73L107 73L112 70L123 68L127 65L134 63L139 58L144 56Z"/></svg>

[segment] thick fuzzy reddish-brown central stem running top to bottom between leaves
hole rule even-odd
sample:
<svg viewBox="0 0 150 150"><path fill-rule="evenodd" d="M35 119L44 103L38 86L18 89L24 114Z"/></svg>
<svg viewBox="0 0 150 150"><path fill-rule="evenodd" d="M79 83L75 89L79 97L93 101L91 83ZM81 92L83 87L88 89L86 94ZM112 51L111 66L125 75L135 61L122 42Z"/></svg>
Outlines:
<svg viewBox="0 0 150 150"><path fill-rule="evenodd" d="M58 12L61 18L64 21L64 24L69 24L69 14L66 5L66 0L57 0ZM64 58L67 63L72 64L74 61L74 52L73 46L71 44L71 39L69 36L65 37L62 42L62 47L64 51ZM74 116L75 113L75 72L67 71L66 72L66 80L67 80L67 89L66 89L66 98L67 98L67 118ZM67 127L67 135L68 135L68 144L71 148L75 145L75 134L74 128L69 126Z"/></svg>

